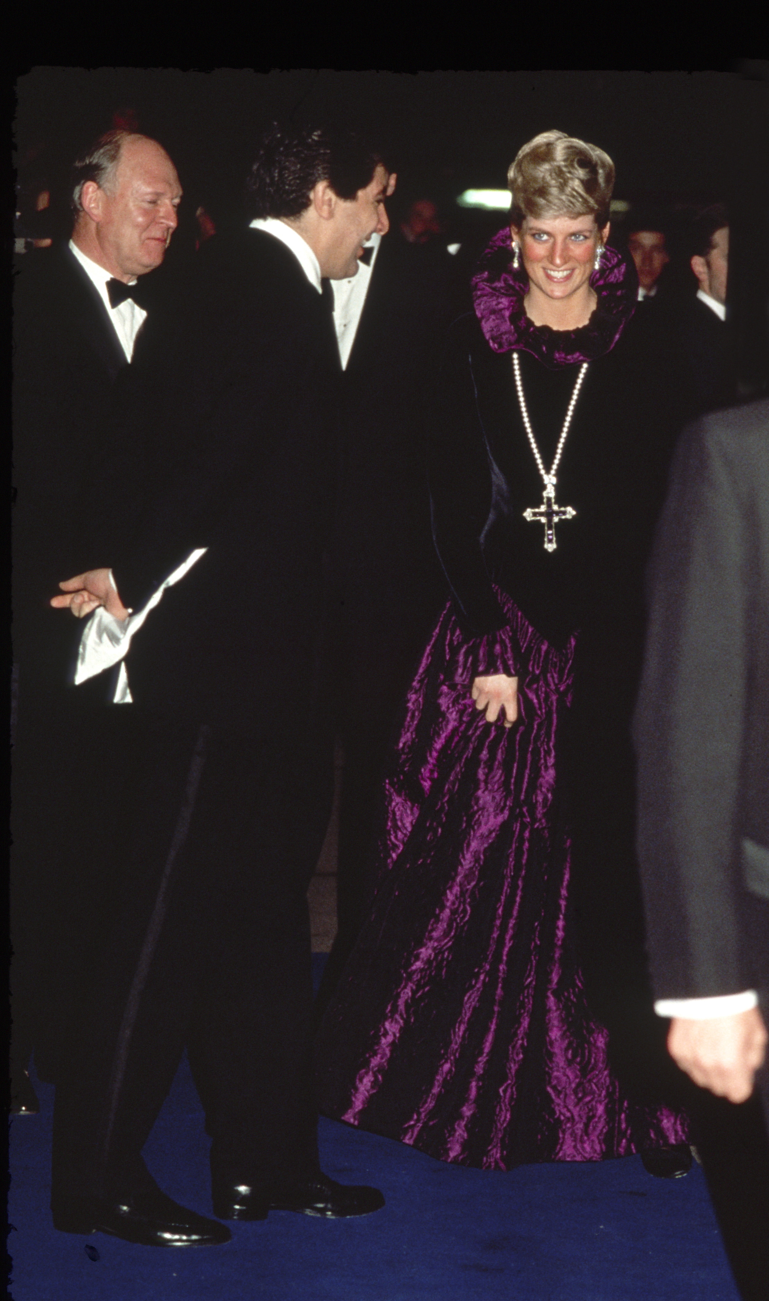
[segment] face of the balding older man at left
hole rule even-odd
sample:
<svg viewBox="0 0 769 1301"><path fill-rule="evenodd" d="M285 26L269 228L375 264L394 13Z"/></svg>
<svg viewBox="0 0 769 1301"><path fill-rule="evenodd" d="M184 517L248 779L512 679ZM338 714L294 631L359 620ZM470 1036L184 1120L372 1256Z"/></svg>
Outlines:
<svg viewBox="0 0 769 1301"><path fill-rule="evenodd" d="M159 267L182 195L168 154L154 141L128 141L112 181L96 191L95 235L105 269L128 281Z"/></svg>

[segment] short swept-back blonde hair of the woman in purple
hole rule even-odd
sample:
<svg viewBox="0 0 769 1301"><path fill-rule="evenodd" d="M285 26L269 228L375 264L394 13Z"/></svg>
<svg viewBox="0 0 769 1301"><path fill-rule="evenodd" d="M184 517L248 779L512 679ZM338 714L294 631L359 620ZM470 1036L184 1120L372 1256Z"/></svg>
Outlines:
<svg viewBox="0 0 769 1301"><path fill-rule="evenodd" d="M510 221L517 229L524 217L588 213L599 226L605 226L614 164L596 144L586 144L565 131L543 131L515 155L507 168L507 185L513 194Z"/></svg>

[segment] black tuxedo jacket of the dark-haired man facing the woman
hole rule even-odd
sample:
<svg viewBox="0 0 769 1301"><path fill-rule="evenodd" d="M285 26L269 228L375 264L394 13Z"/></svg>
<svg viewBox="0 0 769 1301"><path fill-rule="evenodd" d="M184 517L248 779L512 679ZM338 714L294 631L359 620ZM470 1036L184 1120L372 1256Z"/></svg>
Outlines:
<svg viewBox="0 0 769 1301"><path fill-rule="evenodd" d="M262 734L320 693L341 373L331 311L275 237L217 237L176 314L152 315L131 372L91 563L111 565L139 609L208 548L134 637L131 693Z"/></svg>

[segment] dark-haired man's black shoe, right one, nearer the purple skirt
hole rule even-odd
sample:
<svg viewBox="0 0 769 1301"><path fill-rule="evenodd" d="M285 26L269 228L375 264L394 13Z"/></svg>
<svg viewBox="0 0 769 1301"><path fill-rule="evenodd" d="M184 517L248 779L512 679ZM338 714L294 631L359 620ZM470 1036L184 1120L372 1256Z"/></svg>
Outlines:
<svg viewBox="0 0 769 1301"><path fill-rule="evenodd" d="M323 1219L347 1219L370 1215L384 1206L379 1188L337 1184L328 1175L317 1174L293 1184L224 1184L213 1185L213 1214L220 1219L267 1219L268 1211L298 1211Z"/></svg>

